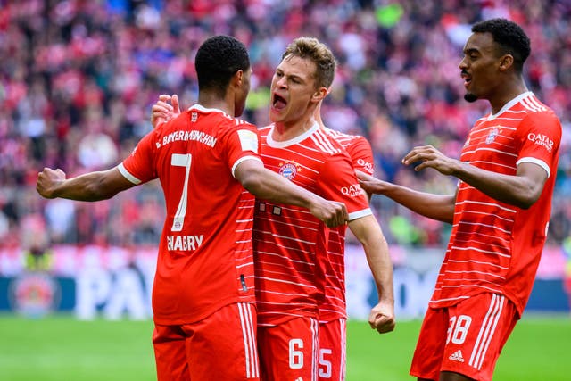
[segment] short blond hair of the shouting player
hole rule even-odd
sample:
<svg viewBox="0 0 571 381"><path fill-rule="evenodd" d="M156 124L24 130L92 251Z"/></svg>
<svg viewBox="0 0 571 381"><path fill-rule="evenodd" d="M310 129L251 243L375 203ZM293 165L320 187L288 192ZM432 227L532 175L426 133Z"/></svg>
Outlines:
<svg viewBox="0 0 571 381"><path fill-rule="evenodd" d="M316 87L331 87L335 78L335 56L331 49L314 37L299 37L285 49L282 54L282 61L288 56L296 56L300 58L309 58L315 62L317 67L315 72Z"/></svg>

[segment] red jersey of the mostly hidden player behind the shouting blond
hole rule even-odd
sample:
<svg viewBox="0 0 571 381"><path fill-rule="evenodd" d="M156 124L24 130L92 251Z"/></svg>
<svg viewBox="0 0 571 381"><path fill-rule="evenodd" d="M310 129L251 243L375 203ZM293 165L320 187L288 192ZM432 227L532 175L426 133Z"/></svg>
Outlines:
<svg viewBox="0 0 571 381"><path fill-rule="evenodd" d="M355 170L361 170L373 175L373 150L365 137L348 135L333 129L324 128L335 140L343 145ZM319 305L319 321L328 322L347 318L345 302L345 233L347 227L331 229L326 262L325 301Z"/></svg>

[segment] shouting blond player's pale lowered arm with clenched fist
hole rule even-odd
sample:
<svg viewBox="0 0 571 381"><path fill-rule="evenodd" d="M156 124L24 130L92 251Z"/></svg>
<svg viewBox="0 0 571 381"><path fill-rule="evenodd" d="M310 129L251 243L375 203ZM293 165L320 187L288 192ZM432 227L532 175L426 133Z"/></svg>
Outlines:
<svg viewBox="0 0 571 381"><path fill-rule="evenodd" d="M370 312L368 324L381 334L391 332L395 325L393 263L383 231L372 215L352 220L349 228L363 245L377 286L378 303Z"/></svg>

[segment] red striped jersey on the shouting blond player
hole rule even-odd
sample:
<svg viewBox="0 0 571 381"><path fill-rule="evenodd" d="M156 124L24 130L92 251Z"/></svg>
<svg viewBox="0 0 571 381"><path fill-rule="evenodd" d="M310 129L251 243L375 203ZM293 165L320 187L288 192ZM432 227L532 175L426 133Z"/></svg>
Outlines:
<svg viewBox="0 0 571 381"><path fill-rule="evenodd" d="M261 158L311 192L345 203L350 219L371 214L349 155L316 123L292 140L271 138L262 128ZM318 317L323 302L329 229L303 208L256 202L254 258L259 325L275 325L298 316Z"/></svg>

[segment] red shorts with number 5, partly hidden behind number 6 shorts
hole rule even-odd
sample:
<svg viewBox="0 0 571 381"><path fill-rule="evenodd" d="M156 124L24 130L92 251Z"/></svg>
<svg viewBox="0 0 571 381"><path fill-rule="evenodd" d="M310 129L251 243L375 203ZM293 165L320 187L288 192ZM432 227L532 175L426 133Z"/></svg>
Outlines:
<svg viewBox="0 0 571 381"><path fill-rule="evenodd" d="M346 319L319 323L319 380L343 381L345 379L346 323Z"/></svg>

